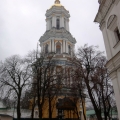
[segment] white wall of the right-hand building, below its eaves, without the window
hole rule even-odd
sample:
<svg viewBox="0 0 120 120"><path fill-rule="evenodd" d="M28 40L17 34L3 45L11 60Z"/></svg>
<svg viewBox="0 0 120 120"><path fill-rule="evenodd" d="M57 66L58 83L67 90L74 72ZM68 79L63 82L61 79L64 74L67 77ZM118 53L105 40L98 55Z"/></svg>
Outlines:
<svg viewBox="0 0 120 120"><path fill-rule="evenodd" d="M113 22L113 24L111 24L111 28L113 29L107 28L108 20L111 15L117 16L117 19ZM114 34L116 27L118 27L120 31L120 0L118 3L116 2L113 8L109 10L105 18L105 23L101 27L107 59L109 61L107 63L107 68L110 71L110 77L113 83L118 115L120 119L120 41L118 43L116 42L116 37Z"/></svg>

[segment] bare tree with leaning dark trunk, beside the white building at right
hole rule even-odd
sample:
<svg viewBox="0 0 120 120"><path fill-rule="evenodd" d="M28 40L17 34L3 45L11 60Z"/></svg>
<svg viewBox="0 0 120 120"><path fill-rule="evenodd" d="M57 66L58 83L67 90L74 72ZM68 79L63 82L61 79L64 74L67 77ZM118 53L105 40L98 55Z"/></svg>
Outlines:
<svg viewBox="0 0 120 120"><path fill-rule="evenodd" d="M102 120L103 112L107 120L113 88L105 67L106 58L102 52L97 51L97 47L84 45L78 49L73 63L76 66L75 74L79 77L79 81L82 80L85 83L97 119Z"/></svg>

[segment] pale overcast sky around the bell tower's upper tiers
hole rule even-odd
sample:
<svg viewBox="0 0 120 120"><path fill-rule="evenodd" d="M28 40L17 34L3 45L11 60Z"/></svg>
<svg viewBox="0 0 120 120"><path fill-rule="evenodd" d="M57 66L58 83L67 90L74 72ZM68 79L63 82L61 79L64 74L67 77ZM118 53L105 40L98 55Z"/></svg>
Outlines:
<svg viewBox="0 0 120 120"><path fill-rule="evenodd" d="M0 61L14 54L24 56L36 49L46 30L45 13L54 0L0 0ZM86 43L105 51L102 33L94 18L98 0L61 0L70 12L70 32L76 49Z"/></svg>

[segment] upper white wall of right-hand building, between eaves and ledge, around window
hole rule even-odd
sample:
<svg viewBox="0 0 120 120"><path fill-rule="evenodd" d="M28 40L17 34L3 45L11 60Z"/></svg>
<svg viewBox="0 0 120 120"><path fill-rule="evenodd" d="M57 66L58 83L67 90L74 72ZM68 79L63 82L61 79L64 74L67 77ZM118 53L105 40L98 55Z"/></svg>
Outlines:
<svg viewBox="0 0 120 120"><path fill-rule="evenodd" d="M107 22L111 15L117 16L117 26L120 31L120 2L117 5L114 5L110 13L108 13L105 20L105 28L102 30L108 60L110 60L113 56L115 56L120 51L120 42L116 47L114 47L115 39L116 39L114 36L114 32L107 28Z"/></svg>

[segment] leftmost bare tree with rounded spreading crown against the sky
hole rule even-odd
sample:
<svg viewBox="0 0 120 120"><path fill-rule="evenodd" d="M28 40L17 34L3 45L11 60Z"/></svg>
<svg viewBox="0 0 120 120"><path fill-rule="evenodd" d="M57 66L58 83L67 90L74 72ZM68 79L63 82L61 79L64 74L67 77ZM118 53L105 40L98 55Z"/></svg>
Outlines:
<svg viewBox="0 0 120 120"><path fill-rule="evenodd" d="M21 96L31 83L31 67L18 55L0 65L0 89L10 99L17 97L17 119L21 117Z"/></svg>

